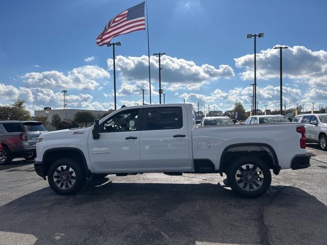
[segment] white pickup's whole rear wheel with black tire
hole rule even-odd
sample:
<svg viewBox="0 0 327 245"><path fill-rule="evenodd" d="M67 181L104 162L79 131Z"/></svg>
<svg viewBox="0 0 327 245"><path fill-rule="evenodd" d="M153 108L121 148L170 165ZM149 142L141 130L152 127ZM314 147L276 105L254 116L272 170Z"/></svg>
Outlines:
<svg viewBox="0 0 327 245"><path fill-rule="evenodd" d="M227 180L230 188L241 197L256 198L268 190L271 184L271 173L268 165L261 159L242 156L228 167Z"/></svg>

